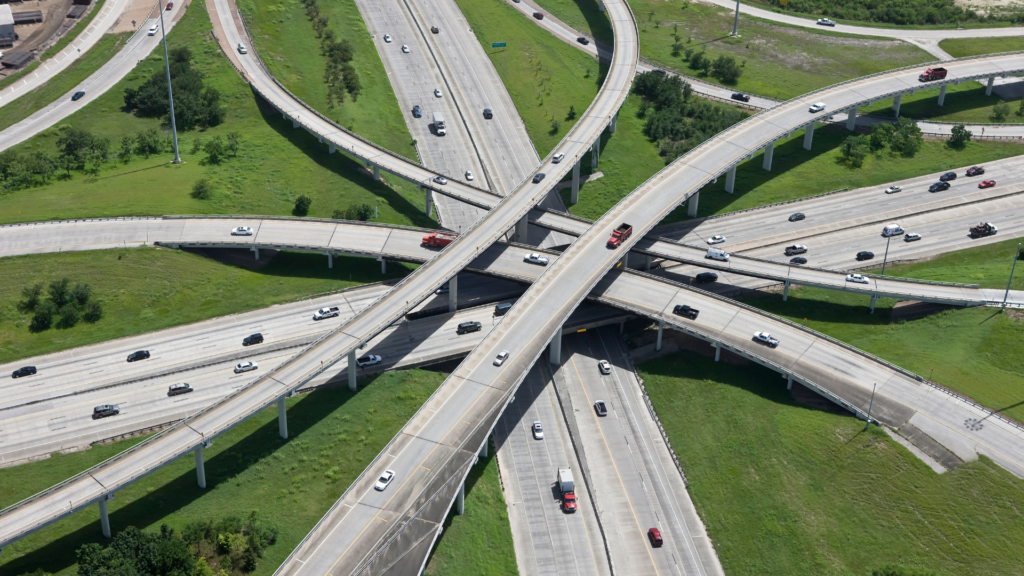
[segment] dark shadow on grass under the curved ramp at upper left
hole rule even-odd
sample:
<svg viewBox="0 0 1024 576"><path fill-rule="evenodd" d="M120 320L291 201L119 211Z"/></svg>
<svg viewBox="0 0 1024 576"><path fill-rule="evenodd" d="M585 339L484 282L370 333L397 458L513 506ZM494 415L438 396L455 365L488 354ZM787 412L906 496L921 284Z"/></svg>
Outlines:
<svg viewBox="0 0 1024 576"><path fill-rule="evenodd" d="M278 134L288 140L297 150L309 157L310 160L334 172L335 174L338 174L342 178L345 178L349 182L364 188L370 193L382 198L391 208L412 220L413 225L430 229L437 228L437 222L423 213L424 210L422 204L414 205L395 190L381 182L375 181L373 175L369 170L367 170L362 163L354 160L347 154L341 151L338 151L335 154L329 154L330 149L328 148L327 142L321 143L315 136L302 128L292 128L291 120L285 120L276 109L267 104L267 101L256 92L253 92L253 96L256 99L256 105L259 109L260 115L263 117L263 121L266 122L267 126L272 128L275 132L278 132ZM383 173L383 175L385 178L400 180L400 178L392 174ZM344 209L345 206L339 205L337 208Z"/></svg>

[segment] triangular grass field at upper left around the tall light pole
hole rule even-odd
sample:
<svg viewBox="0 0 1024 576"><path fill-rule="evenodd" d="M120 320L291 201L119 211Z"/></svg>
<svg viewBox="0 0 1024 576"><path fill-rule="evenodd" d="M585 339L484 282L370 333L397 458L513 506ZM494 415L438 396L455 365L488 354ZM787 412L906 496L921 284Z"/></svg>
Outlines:
<svg viewBox="0 0 1024 576"><path fill-rule="evenodd" d="M423 214L423 196L416 187L384 174L391 187L375 182L358 162L342 154L329 155L305 130L266 105L259 104L210 35L210 19L203 4L194 2L168 36L171 48L188 46L194 66L205 82L217 88L227 108L226 121L206 131L181 132L181 165L169 163L171 154L136 157L116 168L109 164L97 176L81 173L69 180L0 196L0 222L118 215L197 213L289 214L295 198L313 199L310 216L330 217L335 209L353 203L380 203L380 220L434 227ZM118 148L122 136L157 128L169 135L159 119L138 118L122 112L124 89L138 86L163 69L163 54L152 54L124 81L67 118L62 125L109 137ZM204 153L191 154L193 141L238 131L242 147L237 158L209 165ZM13 150L32 154L55 153L56 129L44 131ZM211 200L189 197L193 183L207 178L213 183Z"/></svg>

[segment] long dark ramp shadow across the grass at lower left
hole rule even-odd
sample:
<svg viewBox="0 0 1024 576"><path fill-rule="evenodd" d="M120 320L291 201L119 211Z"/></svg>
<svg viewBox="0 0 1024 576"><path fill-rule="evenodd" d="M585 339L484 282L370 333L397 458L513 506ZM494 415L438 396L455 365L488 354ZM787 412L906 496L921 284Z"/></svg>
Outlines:
<svg viewBox="0 0 1024 576"><path fill-rule="evenodd" d="M360 382L360 387L372 385L375 378L371 377ZM117 533L129 526L145 527L165 520L203 497L218 485L233 482L236 476L258 463L263 458L270 456L279 448L301 436L312 425L344 406L352 396L353 394L347 387L329 387L303 395L303 398L299 402L294 403L288 408L289 440L284 440L279 436L278 420L276 418L271 419L256 430L237 441L229 448L216 452L212 457L209 456L208 452L206 459L206 490L196 485L196 470L189 466L188 470L184 474L179 475L162 486L153 487L152 491L145 495L113 510L110 515L112 531ZM271 407L268 410L273 409ZM214 441L215 447L217 442ZM221 440L220 442L228 441ZM182 458L189 458L189 456L183 456ZM115 500L114 504L117 505L117 500ZM90 506L90 509L95 510L96 506ZM248 511L238 510L238 513L242 515ZM82 511L78 513L82 513ZM69 521L70 519L60 521L56 526L59 527L59 524ZM43 538L45 536L41 539ZM102 534L100 534L98 521L89 522L81 528L47 542L24 557L4 564L2 573L14 576L41 569L46 573L55 574L74 566L77 563L76 550L83 544L90 542L101 545L110 543L110 540L103 538Z"/></svg>

